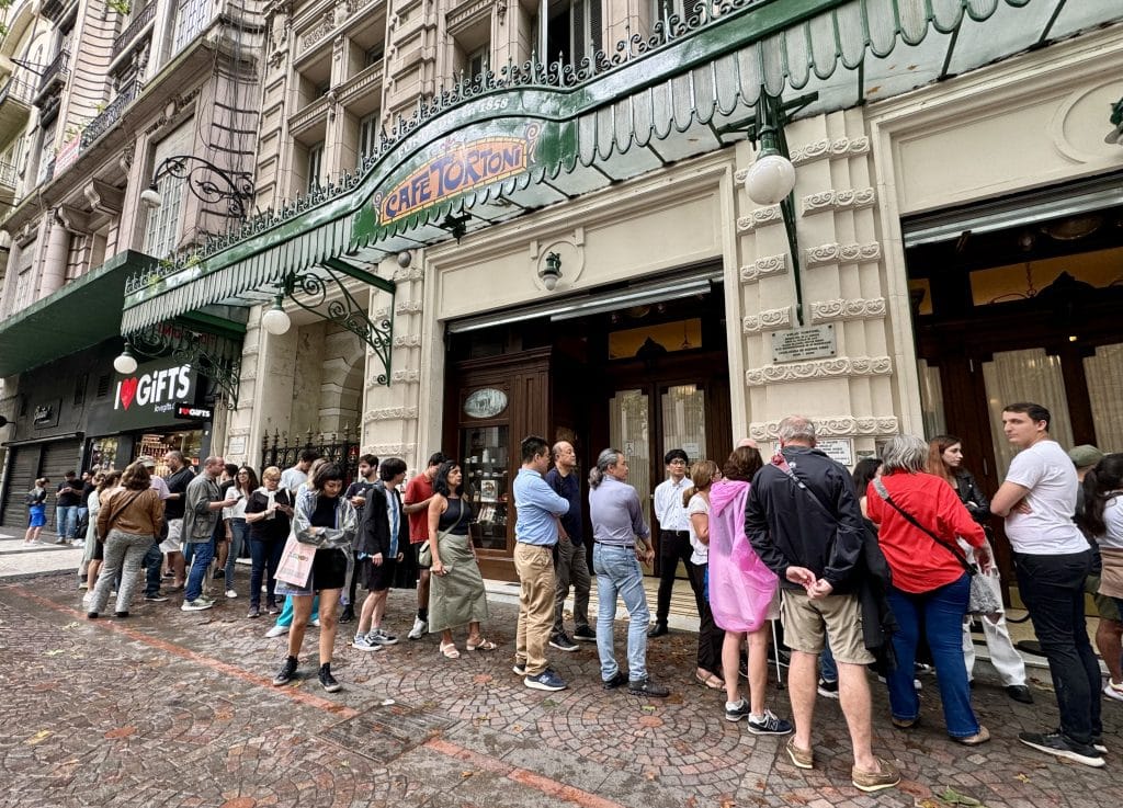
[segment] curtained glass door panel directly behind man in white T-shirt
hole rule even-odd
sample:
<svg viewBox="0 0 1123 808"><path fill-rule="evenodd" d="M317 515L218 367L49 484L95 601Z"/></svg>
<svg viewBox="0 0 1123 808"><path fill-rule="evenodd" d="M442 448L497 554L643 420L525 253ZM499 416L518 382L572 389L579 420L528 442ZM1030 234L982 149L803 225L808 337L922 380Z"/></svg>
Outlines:
<svg viewBox="0 0 1123 808"><path fill-rule="evenodd" d="M1047 407L1052 413L1050 437L1062 447L1072 446L1072 421L1059 357L1049 356L1043 348L995 354L993 361L983 362L983 380L998 479L1006 477L1016 453L1002 431L1002 408L1007 404L1033 402Z"/></svg>

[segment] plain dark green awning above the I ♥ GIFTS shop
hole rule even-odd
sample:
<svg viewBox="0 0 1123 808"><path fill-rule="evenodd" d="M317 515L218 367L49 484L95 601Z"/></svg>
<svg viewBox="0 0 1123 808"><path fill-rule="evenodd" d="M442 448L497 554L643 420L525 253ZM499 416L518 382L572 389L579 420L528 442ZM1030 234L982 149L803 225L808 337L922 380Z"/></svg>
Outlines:
<svg viewBox="0 0 1123 808"><path fill-rule="evenodd" d="M129 275L155 259L126 250L0 323L0 377L30 370L113 337Z"/></svg>

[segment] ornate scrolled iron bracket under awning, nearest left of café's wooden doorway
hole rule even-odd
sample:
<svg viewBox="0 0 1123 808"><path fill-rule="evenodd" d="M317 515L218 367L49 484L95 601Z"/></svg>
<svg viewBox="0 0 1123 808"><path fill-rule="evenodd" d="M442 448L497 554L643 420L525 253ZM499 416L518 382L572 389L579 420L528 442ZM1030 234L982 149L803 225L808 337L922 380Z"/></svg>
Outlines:
<svg viewBox="0 0 1123 808"><path fill-rule="evenodd" d="M327 277L323 277L327 275ZM390 295L390 314L381 322L374 322L367 315L363 305L355 300L345 283L348 277L358 278ZM331 288L334 284L335 290ZM383 373L378 374L377 383L390 386L390 354L393 343L394 290L392 281L364 272L338 259L328 259L316 272L302 274L290 273L280 285L281 294L304 311L318 318L343 325L363 342L382 364ZM338 297L329 294L338 292Z"/></svg>

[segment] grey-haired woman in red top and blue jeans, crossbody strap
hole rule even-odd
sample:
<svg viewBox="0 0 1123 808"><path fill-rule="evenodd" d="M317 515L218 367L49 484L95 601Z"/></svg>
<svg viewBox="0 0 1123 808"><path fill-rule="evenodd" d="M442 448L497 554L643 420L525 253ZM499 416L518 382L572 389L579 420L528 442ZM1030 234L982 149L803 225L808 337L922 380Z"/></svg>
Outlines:
<svg viewBox="0 0 1123 808"><path fill-rule="evenodd" d="M971 709L964 664L960 627L967 614L970 576L960 561L957 539L961 536L975 548L982 567L989 567L990 558L983 527L947 480L924 471L926 459L928 443L920 438L894 438L882 453L882 477L869 484L866 497L869 518L880 525L878 543L893 571L889 605L901 625L893 635L897 668L887 677L889 708L894 726L916 725L920 695L913 688L913 662L923 621L948 734L974 746L989 741L990 733Z"/></svg>

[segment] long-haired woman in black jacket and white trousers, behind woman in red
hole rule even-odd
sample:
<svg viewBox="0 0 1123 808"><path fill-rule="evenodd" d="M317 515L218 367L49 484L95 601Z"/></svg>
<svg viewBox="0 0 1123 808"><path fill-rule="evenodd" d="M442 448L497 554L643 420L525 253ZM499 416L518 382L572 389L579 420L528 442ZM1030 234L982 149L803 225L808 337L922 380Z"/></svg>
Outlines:
<svg viewBox="0 0 1123 808"><path fill-rule="evenodd" d="M971 518L978 522L986 532L990 521L990 501L975 481L974 475L964 466L962 441L955 435L937 435L930 440L928 442L928 472L947 480L948 485L959 495L959 502L967 508ZM987 554L994 558L989 533L987 540ZM974 563L975 550L970 544L960 539L959 549L967 554L967 560ZM995 600L1002 604L1002 581L998 577L997 564L992 564L990 571L986 573L986 581L994 593ZM998 671L1006 694L1015 701L1033 704L1033 695L1025 686L1025 661L1014 649L1014 642L1010 639L1005 609L980 615L980 618L983 637L986 640L990 661L994 663L995 670ZM964 661L967 664L968 679L971 678L975 669L975 641L971 639L970 624L970 617L964 621Z"/></svg>

